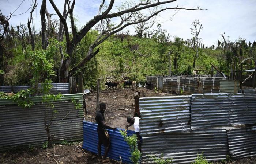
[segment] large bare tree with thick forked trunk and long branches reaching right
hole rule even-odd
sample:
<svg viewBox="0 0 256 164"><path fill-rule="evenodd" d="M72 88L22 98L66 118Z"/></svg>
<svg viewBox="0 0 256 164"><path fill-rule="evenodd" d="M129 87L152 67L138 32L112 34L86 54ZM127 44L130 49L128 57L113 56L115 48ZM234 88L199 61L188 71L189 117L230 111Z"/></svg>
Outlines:
<svg viewBox="0 0 256 164"><path fill-rule="evenodd" d="M44 1L45 0L43 0L43 2ZM83 67L91 58L93 58L96 54L98 54L100 48L99 47L97 48L97 46L99 46L104 40L108 39L109 36L123 30L125 27L127 27L129 25L133 25L133 24L146 22L146 21L150 20L151 18L153 18L155 15L157 15L160 12L165 11L167 9L202 10L199 7L195 8L195 9L179 8L178 6L173 7L173 8L170 8L170 7L162 8L162 9L159 9L158 11L155 11L154 13L151 13L150 16L147 16L146 18L144 18L142 20L135 20L133 17L133 13L135 13L135 12L141 11L143 9L153 8L153 7L167 4L167 3L172 3L176 0L169 0L169 1L162 1L162 2L160 2L158 0L154 3L152 3L150 0L147 0L144 2L138 3L138 4L134 5L133 7L121 9L118 12L114 12L114 13L110 12L114 5L114 0L110 0L108 7L106 7L105 11L101 11L102 6L105 3L105 0L103 0L99 7L98 14L96 16L94 16L93 19L89 20L83 26L83 28L81 28L79 31L77 31L75 24L74 24L74 17L73 17L73 9L74 9L74 5L75 5L75 0L73 0L71 6L70 6L70 1L68 0L67 6L68 6L69 16L70 16L70 20L71 20L71 30L72 30L72 36L73 36L71 39L69 37L67 20L65 19L64 15L61 14L61 12L59 11L59 8L55 5L54 1L53 0L49 0L49 1L51 3L52 7L54 8L55 12L59 16L61 23L63 24L65 37L66 37L66 53L68 54L68 56L67 55L63 56L63 59L61 60L60 70L59 70L60 82L67 82L68 76L73 75L76 72L76 70ZM44 3L42 3L42 5L44 5ZM42 11L44 8L45 7L41 8ZM64 7L64 10L65 10L65 7ZM89 50L88 50L87 54L84 56L84 58L79 63L77 63L74 67L72 67L70 69L69 67L70 67L74 48L84 38L84 36L86 36L86 34L95 25L97 25L101 20L117 18L117 17L120 17L120 19L121 19L120 23L111 27L110 29L101 31L101 34L99 34L98 38L95 39L95 41L89 46ZM42 21L44 21L44 19L42 19ZM97 48L97 49L95 50L95 48Z"/></svg>

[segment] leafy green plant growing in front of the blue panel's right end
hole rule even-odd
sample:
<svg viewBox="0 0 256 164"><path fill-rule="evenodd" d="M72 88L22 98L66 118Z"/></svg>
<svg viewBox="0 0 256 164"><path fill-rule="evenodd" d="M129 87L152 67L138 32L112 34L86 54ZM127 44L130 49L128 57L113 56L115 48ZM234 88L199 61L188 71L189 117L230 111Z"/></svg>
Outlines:
<svg viewBox="0 0 256 164"><path fill-rule="evenodd" d="M140 160L140 156L141 153L138 149L138 144L137 144L137 136L135 134L133 134L132 136L127 136L127 134L120 130L121 135L124 137L124 141L127 142L127 144L129 145L130 148L130 152L131 152L131 161L134 164L139 164L139 160Z"/></svg>

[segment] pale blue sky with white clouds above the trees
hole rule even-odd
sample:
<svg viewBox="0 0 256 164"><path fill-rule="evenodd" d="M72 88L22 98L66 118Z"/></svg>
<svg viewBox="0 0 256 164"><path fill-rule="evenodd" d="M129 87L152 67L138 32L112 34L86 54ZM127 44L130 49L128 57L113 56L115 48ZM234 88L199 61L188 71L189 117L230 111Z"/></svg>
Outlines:
<svg viewBox="0 0 256 164"><path fill-rule="evenodd" d="M10 19L10 24L13 26L19 23L27 24L27 19L30 17L30 6L34 0L0 0L0 9L6 16L10 12L14 12ZM106 0L109 4L110 0ZM116 0L111 12L117 11L117 6L128 0ZM132 1L132 0L130 0ZM135 0L138 2L138 0ZM164 0L160 0L164 1ZM40 29L40 7L42 0L37 0L38 6L33 13L35 18L35 28ZM54 3L63 11L64 0L54 0ZM74 15L78 19L76 23L78 27L82 27L86 22L92 19L98 13L101 0L76 0ZM200 8L207 10L185 11L181 10L177 14L177 10L163 11L156 17L157 23L161 24L161 28L167 30L172 36L178 36L185 40L192 38L191 30L192 22L198 19L202 23L202 31L199 37L202 38L202 43L208 46L217 44L218 39L221 40L221 35L225 32L226 38L229 37L231 41L235 41L238 37L246 39L247 42L256 40L256 0L177 0L173 3L162 5L165 7L183 7L183 8ZM51 4L47 0L47 9L49 13L56 13ZM27 12L26 12L27 11ZM24 13L25 12L25 13ZM19 15L23 13L22 15ZM144 11L145 14L148 11ZM174 15L175 14L175 15ZM174 15L174 16L173 16ZM53 18L58 19L57 15ZM171 19L172 18L172 19ZM116 24L119 19L114 19ZM153 26L153 29L156 29ZM131 34L134 34L132 26L127 27Z"/></svg>

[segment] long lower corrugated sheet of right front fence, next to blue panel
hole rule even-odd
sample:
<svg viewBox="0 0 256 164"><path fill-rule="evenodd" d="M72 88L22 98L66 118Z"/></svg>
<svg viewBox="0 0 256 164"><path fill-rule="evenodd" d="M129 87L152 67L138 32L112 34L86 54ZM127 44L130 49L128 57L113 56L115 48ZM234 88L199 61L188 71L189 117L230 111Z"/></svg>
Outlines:
<svg viewBox="0 0 256 164"><path fill-rule="evenodd" d="M194 161L197 154L204 153L209 161L226 159L229 154L225 129L193 130L188 133L159 133L142 136L142 156L152 161L150 155L172 158L174 164Z"/></svg>

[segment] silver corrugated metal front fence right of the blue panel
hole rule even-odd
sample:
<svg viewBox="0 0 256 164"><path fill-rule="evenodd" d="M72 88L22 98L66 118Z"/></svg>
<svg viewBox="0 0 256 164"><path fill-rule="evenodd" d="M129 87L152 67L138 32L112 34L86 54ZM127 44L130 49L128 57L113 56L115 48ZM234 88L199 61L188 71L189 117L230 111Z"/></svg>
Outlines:
<svg viewBox="0 0 256 164"><path fill-rule="evenodd" d="M142 156L190 163L256 156L256 94L192 94L140 99ZM243 125L245 128L238 128ZM237 127L237 128L236 128Z"/></svg>

